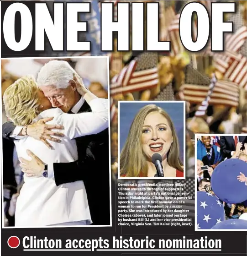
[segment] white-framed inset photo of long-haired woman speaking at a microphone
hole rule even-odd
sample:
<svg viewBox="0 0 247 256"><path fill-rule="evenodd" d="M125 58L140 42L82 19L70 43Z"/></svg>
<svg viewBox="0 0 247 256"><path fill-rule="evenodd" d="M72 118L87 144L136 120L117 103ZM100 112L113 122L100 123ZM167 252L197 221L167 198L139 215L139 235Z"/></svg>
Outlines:
<svg viewBox="0 0 247 256"><path fill-rule="evenodd" d="M118 179L185 179L185 101L118 101Z"/></svg>

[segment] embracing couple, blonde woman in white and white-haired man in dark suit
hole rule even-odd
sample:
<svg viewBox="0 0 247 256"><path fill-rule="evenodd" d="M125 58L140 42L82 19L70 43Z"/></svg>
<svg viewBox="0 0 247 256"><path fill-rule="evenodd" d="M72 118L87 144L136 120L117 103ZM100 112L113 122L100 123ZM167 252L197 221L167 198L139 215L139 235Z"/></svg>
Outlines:
<svg viewBox="0 0 247 256"><path fill-rule="evenodd" d="M18 79L3 96L3 137L16 145L24 185L15 226L110 224L108 100L63 60Z"/></svg>

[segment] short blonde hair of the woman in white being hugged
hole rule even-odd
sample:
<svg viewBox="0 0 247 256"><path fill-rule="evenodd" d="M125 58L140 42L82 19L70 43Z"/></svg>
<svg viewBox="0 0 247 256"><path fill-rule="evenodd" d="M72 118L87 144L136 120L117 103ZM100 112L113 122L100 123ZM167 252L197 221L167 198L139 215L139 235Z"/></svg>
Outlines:
<svg viewBox="0 0 247 256"><path fill-rule="evenodd" d="M39 114L38 87L34 77L24 76L9 86L4 95L6 115L14 125L28 125Z"/></svg>

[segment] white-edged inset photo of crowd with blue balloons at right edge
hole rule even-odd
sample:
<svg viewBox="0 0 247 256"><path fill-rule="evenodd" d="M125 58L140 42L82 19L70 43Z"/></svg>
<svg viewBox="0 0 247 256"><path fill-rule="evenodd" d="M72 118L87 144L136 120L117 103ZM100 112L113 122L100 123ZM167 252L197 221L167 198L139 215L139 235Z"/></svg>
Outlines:
<svg viewBox="0 0 247 256"><path fill-rule="evenodd" d="M247 231L247 136L195 135L195 231Z"/></svg>

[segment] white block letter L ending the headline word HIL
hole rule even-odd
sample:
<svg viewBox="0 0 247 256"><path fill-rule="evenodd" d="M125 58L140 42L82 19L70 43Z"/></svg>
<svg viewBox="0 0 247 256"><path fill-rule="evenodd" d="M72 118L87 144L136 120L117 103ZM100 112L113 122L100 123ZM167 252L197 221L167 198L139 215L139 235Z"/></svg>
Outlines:
<svg viewBox="0 0 247 256"><path fill-rule="evenodd" d="M170 42L159 41L159 3L147 3L147 51L170 51Z"/></svg>

